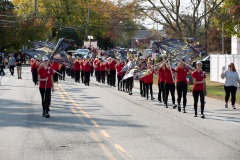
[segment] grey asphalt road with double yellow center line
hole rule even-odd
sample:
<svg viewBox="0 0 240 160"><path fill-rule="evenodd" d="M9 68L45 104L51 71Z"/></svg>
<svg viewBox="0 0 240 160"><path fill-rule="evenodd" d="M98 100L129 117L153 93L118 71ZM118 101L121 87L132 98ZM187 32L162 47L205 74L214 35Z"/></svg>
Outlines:
<svg viewBox="0 0 240 160"><path fill-rule="evenodd" d="M67 77L55 85L51 117L41 117L38 86L29 67L23 79L0 77L1 160L240 159L240 106L206 98L205 119L91 79L90 86ZM16 73L15 73L16 74ZM154 86L157 97L157 86ZM199 107L200 113L200 107Z"/></svg>

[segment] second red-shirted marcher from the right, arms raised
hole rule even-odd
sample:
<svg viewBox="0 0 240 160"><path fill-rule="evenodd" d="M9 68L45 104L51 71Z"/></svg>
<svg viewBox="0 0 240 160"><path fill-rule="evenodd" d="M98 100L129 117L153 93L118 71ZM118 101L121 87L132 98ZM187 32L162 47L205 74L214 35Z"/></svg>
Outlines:
<svg viewBox="0 0 240 160"><path fill-rule="evenodd" d="M177 102L178 102L178 111L181 112L181 98L183 97L183 113L186 113L186 104L187 104L187 88L188 81L187 75L190 74L190 70L185 67L185 62L181 61L176 67L176 78L177 78Z"/></svg>

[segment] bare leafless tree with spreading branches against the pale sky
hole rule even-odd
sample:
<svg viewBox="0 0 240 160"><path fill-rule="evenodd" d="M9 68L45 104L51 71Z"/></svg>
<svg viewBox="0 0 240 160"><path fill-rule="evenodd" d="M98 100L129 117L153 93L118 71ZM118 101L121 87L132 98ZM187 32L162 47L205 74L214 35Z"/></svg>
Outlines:
<svg viewBox="0 0 240 160"><path fill-rule="evenodd" d="M199 36L199 28L204 25L205 35L210 19L224 0L191 0L189 4L181 0L144 0L141 6L144 15L167 28L175 37Z"/></svg>

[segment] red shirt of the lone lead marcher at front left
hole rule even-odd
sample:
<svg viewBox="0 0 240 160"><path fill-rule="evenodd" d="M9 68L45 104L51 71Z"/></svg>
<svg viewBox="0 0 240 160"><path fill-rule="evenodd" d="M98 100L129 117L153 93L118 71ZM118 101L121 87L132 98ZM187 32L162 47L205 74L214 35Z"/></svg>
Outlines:
<svg viewBox="0 0 240 160"><path fill-rule="evenodd" d="M45 79L48 77L47 85L46 81L40 81L39 88L52 88L51 76L54 74L53 69L48 67L45 69L43 66L38 69L38 75L40 75L41 79Z"/></svg>

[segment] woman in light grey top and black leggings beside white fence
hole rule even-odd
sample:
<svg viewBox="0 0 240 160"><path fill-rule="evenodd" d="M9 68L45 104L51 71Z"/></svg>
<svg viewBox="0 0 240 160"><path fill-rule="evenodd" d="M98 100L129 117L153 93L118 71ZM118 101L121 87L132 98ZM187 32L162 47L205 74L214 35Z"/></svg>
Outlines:
<svg viewBox="0 0 240 160"><path fill-rule="evenodd" d="M235 108L235 102L236 102L236 92L237 87L240 86L240 78L238 75L238 72L236 71L234 63L230 63L228 65L228 70L224 71L225 67L223 67L223 72L221 74L221 78L226 78L226 81L224 83L224 90L225 90L225 108L228 108L228 100L231 93L231 101L232 101L232 108Z"/></svg>

